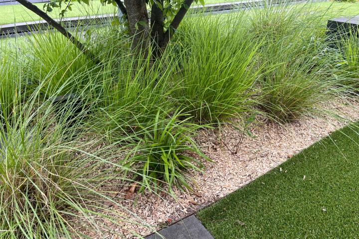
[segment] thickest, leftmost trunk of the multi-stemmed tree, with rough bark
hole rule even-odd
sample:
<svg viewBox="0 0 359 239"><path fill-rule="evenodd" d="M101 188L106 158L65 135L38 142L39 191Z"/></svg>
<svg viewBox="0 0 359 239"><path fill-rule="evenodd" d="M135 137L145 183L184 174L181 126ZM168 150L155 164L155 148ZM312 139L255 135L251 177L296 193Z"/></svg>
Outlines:
<svg viewBox="0 0 359 239"><path fill-rule="evenodd" d="M147 55L150 43L149 17L146 0L125 0L127 17L130 25L132 49Z"/></svg>

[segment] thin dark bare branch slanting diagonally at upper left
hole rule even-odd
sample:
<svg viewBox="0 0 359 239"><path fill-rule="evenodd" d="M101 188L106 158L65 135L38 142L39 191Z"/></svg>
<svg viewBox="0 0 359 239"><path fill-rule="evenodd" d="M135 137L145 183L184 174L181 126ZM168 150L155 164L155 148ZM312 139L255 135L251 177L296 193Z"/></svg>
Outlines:
<svg viewBox="0 0 359 239"><path fill-rule="evenodd" d="M69 39L83 54L90 57L96 64L100 63L99 59L95 57L86 47L76 39L70 32L68 32L60 23L52 19L46 12L40 10L37 6L27 0L17 0L21 5L34 12L36 15L43 18L50 26L58 30L62 35Z"/></svg>

